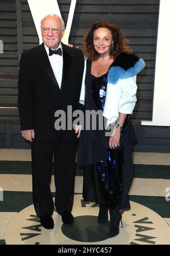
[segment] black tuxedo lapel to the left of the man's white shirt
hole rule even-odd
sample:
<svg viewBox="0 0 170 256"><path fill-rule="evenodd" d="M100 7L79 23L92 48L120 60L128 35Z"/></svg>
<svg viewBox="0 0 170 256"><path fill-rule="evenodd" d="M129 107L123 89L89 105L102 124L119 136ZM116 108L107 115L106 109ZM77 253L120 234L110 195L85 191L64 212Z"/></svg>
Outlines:
<svg viewBox="0 0 170 256"><path fill-rule="evenodd" d="M46 54L43 43L40 45L39 60L42 64L43 68L45 69L46 74L48 74L49 78L53 81L53 83L55 83L55 85L57 85L57 87L59 89L56 77L54 75L52 66L50 65L50 61Z"/></svg>

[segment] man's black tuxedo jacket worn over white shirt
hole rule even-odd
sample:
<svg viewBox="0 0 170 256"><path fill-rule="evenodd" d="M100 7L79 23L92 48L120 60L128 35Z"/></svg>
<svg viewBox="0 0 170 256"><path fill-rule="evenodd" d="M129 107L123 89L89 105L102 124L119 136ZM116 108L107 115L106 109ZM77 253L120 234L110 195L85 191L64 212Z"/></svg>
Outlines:
<svg viewBox="0 0 170 256"><path fill-rule="evenodd" d="M79 49L64 44L62 49L61 89L43 43L22 53L20 59L18 107L21 130L35 129L37 141L55 142L59 136L64 140L75 136L74 130L56 131L54 113L63 110L67 117L67 106L72 106L73 111L79 109L84 58Z"/></svg>

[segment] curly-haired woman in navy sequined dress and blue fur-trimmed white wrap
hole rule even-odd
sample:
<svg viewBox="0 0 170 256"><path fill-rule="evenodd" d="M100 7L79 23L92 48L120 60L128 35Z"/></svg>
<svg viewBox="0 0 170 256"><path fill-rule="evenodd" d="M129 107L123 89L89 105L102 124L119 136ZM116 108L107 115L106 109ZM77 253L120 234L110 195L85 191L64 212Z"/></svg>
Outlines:
<svg viewBox="0 0 170 256"><path fill-rule="evenodd" d="M131 53L122 32L112 22L95 23L84 36L83 46L88 58L80 102L84 102L86 111L102 113L97 120L92 117L90 129L86 129L86 120L79 139L83 198L99 204L99 223L108 221L109 210L109 237L113 237L119 233L121 212L130 209L133 132L129 114L137 100L135 78L145 64ZM101 129L99 123L106 125ZM109 136L108 127L112 128Z"/></svg>

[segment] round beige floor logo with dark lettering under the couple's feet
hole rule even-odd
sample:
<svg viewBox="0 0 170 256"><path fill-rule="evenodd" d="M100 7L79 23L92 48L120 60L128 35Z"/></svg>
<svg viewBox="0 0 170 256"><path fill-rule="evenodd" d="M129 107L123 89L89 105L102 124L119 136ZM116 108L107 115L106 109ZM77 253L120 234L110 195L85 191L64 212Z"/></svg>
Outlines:
<svg viewBox="0 0 170 256"><path fill-rule="evenodd" d="M8 224L5 241L7 245L81 245L85 242L95 245L170 244L170 228L163 218L141 204L130 204L131 210L122 215L123 228L113 238L108 238L109 221L102 225L97 223L99 207L96 204L84 203L82 195L75 195L73 225L63 224L61 216L54 212L54 229L44 229L33 205L30 205L15 215Z"/></svg>

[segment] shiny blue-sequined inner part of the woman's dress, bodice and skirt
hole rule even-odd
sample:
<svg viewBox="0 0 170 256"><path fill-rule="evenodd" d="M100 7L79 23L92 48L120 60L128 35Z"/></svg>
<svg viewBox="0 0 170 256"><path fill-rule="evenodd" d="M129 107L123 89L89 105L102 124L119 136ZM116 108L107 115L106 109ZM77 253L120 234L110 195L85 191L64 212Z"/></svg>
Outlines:
<svg viewBox="0 0 170 256"><path fill-rule="evenodd" d="M92 97L97 110L104 109L105 95L107 92L107 73L100 77L92 77ZM118 171L117 155L113 149L107 149L108 159L95 163L94 171L97 171L101 198L100 203L107 203L114 207L120 207L122 178Z"/></svg>

